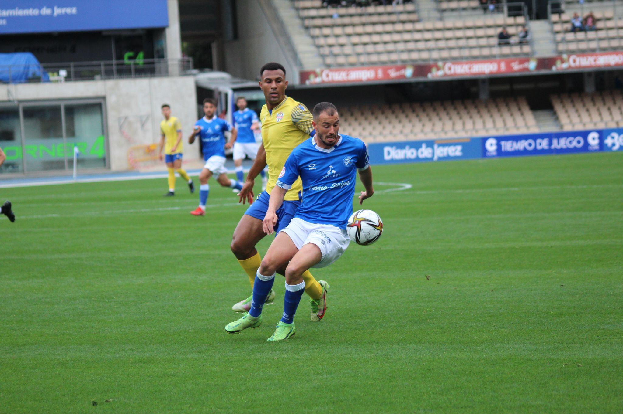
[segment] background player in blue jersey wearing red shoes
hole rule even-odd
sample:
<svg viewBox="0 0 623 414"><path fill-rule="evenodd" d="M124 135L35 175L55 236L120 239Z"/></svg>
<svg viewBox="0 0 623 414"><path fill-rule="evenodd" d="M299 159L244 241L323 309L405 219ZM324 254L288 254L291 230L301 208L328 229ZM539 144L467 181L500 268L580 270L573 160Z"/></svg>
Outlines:
<svg viewBox="0 0 623 414"><path fill-rule="evenodd" d="M195 122L193 133L188 137L188 143L193 144L195 137L198 135L201 139L203 159L206 165L203 166L199 173L199 207L191 211L193 216L206 215L207 196L210 191L210 185L207 181L216 175L216 181L224 186L242 190L242 183L237 180L230 180L227 177L227 168L225 168L225 149L229 149L234 145L237 131L229 122L220 119L214 115L216 112L216 101L211 98L203 100L203 113L206 116ZM231 131L231 141L226 142L225 131Z"/></svg>

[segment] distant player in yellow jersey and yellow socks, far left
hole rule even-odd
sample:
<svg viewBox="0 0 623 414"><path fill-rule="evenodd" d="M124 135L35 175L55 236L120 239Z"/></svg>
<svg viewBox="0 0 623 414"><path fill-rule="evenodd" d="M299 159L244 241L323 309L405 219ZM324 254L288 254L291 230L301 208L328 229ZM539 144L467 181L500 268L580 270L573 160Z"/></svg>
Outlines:
<svg viewBox="0 0 623 414"><path fill-rule="evenodd" d="M188 174L182 168L182 126L179 123L179 119L171 116L171 107L168 104L164 104L161 109L164 121L160 122L160 152L158 156L162 161L162 150L164 148L164 161L169 170L169 192L165 196L175 195L175 172L178 172L179 176L188 182L188 188L193 193L193 180L188 177Z"/></svg>

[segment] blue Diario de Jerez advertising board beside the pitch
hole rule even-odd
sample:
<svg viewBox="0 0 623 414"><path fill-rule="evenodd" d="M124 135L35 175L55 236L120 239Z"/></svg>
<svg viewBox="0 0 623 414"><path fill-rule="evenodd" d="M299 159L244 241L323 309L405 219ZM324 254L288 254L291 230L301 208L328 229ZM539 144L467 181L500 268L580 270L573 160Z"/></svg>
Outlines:
<svg viewBox="0 0 623 414"><path fill-rule="evenodd" d="M481 157L480 139L445 139L369 144L370 163L469 160Z"/></svg>

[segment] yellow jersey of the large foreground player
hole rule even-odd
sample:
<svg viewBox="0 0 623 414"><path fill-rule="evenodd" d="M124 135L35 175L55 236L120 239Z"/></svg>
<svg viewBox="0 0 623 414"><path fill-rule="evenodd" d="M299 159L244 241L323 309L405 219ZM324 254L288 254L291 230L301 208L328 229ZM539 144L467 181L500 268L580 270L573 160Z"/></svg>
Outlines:
<svg viewBox="0 0 623 414"><path fill-rule="evenodd" d="M305 105L286 96L272 111L269 111L266 105L262 106L260 122L262 122L262 144L269 166L266 192L270 194L292 150L310 137L313 131L312 114ZM298 200L300 191L303 191L303 184L299 177L285 193L284 200Z"/></svg>

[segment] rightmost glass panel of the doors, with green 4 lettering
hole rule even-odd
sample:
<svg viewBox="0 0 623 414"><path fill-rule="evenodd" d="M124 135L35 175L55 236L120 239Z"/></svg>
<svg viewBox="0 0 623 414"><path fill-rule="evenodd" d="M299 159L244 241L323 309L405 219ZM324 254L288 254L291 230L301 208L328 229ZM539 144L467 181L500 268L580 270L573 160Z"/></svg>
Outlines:
<svg viewBox="0 0 623 414"><path fill-rule="evenodd" d="M65 134L68 147L80 150L78 168L106 167L102 104L65 105ZM71 152L67 152L69 168L74 168Z"/></svg>

